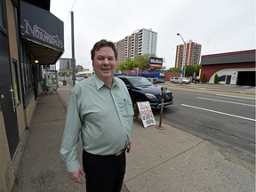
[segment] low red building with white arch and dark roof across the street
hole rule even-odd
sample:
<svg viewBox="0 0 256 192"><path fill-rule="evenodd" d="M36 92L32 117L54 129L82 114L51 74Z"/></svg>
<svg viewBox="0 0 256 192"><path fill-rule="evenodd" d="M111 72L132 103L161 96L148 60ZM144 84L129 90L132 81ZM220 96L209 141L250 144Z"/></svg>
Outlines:
<svg viewBox="0 0 256 192"><path fill-rule="evenodd" d="M214 76L220 77L220 84L255 86L255 51L224 52L203 55L201 59L201 80L214 83Z"/></svg>

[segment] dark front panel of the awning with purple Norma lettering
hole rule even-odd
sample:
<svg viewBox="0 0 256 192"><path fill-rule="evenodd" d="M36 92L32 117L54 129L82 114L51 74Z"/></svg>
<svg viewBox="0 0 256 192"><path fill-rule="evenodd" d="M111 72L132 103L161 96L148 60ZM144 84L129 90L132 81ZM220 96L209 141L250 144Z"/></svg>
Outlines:
<svg viewBox="0 0 256 192"><path fill-rule="evenodd" d="M64 51L63 22L51 12L20 1L21 35L39 44Z"/></svg>

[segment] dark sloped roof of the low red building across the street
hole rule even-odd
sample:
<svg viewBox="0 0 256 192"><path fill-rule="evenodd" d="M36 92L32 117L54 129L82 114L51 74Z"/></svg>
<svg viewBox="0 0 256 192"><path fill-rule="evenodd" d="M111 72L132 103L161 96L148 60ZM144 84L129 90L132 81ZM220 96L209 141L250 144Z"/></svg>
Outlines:
<svg viewBox="0 0 256 192"><path fill-rule="evenodd" d="M247 50L203 55L201 65L255 62L255 51Z"/></svg>

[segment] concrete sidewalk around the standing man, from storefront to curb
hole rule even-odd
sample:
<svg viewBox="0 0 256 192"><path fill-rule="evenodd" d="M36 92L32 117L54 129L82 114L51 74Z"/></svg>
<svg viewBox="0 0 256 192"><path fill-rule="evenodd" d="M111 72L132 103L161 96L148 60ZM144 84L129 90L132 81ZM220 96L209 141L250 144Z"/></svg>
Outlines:
<svg viewBox="0 0 256 192"><path fill-rule="evenodd" d="M13 192L85 191L68 178L59 154L70 89L60 83L58 94L38 100L20 147ZM162 125L163 130L145 129L140 118L134 120L123 192L255 191L254 170L206 140Z"/></svg>

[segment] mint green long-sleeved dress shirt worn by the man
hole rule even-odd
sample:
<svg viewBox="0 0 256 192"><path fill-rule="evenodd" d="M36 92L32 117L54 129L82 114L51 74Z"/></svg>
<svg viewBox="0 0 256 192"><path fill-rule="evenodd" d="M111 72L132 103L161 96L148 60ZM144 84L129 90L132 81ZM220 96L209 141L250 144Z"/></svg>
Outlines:
<svg viewBox="0 0 256 192"><path fill-rule="evenodd" d="M60 155L68 172L80 166L77 143L94 155L114 155L128 145L132 133L132 100L124 82L114 77L108 86L96 74L76 84L70 92Z"/></svg>

